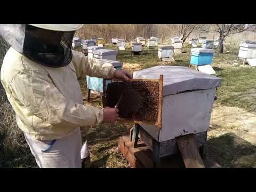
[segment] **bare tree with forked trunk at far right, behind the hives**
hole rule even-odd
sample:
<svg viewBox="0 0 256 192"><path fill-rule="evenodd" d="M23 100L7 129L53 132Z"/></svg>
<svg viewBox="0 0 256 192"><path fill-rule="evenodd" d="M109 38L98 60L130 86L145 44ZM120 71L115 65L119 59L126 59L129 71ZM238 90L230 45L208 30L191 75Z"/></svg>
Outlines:
<svg viewBox="0 0 256 192"><path fill-rule="evenodd" d="M217 32L219 34L219 53L223 53L223 42L231 34L242 33L246 30L255 30L255 24L215 24L213 30L207 30L204 25L199 26L199 30L206 33Z"/></svg>

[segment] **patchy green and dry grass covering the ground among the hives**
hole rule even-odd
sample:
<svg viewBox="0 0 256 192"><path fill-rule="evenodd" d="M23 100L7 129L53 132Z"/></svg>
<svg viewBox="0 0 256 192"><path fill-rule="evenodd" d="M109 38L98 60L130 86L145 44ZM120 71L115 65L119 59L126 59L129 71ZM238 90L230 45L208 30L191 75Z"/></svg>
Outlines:
<svg viewBox="0 0 256 192"><path fill-rule="evenodd" d="M110 49L116 50L115 46L107 44ZM228 107L243 108L251 113L255 111L256 92L256 68L237 67L231 64L235 62L238 54L238 47L226 47L224 54L215 53L213 68L216 76L222 78L222 85L217 90L217 101L220 105ZM78 49L81 51L81 49ZM185 44L182 47L182 54L174 55L175 62L160 62L157 59L157 49L143 49L142 55L130 55L130 48L125 51L118 51L117 60L129 63L127 66L137 63L141 69L157 65L188 66L190 60L190 47ZM84 104L100 107L100 100L93 99L90 103L85 100L86 81L79 79L82 87ZM1 101L2 103L3 101ZM7 103L6 101L4 101ZM7 103L8 104L8 103ZM6 104L6 105L7 105ZM36 166L33 156L22 137L21 132L15 124L10 104L4 111L1 108L1 121L9 122L1 124L0 127L0 153L3 167L29 167ZM4 115L3 115L4 114ZM6 115L7 114L7 115ZM8 118L9 120L8 120ZM88 140L91 153L92 167L130 167L126 159L119 153L117 143L119 136L129 132L132 124L100 124L93 127L82 127L82 140ZM221 125L214 125L215 130L224 133ZM17 131L18 130L18 131ZM241 139L235 134L236 127L225 128L225 134L210 135L207 144L207 154L225 167L255 167L255 146ZM4 138L4 139L3 139ZM15 140L15 138L18 138ZM2 145L2 146L1 146ZM5 153L3 154L3 150ZM1 166L1 165L0 165Z"/></svg>

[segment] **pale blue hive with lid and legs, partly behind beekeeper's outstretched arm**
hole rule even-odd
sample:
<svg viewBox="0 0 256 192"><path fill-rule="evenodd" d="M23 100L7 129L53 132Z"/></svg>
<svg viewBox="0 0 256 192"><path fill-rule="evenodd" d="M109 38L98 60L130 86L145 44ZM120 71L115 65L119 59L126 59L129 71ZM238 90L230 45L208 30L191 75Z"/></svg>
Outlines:
<svg viewBox="0 0 256 192"><path fill-rule="evenodd" d="M119 61L101 59L100 62L111 63L111 65L113 65L116 70L121 70L122 66L123 66L123 63L119 62ZM103 107L105 107L106 90L107 90L107 86L109 83L111 83L111 80L98 78L98 77L86 76L87 101L88 102L90 101L91 90L98 91L101 93L101 102L102 102Z"/></svg>

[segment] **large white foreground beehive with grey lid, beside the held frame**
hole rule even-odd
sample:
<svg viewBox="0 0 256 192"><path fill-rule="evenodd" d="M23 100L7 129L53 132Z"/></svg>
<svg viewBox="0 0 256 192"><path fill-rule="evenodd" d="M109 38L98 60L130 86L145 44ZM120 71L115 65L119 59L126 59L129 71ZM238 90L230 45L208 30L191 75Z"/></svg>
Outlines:
<svg viewBox="0 0 256 192"><path fill-rule="evenodd" d="M159 79L163 75L162 127L141 124L156 141L209 129L215 91L221 79L187 67L156 66L135 71L133 78Z"/></svg>

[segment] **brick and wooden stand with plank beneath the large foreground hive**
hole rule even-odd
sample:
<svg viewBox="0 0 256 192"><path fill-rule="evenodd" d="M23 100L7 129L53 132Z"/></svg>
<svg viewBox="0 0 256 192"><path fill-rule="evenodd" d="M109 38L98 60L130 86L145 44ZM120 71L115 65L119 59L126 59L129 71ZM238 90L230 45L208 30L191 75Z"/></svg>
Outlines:
<svg viewBox="0 0 256 192"><path fill-rule="evenodd" d="M220 167L219 164L205 157L205 150L197 146L195 135L185 135L175 139L179 154L163 157L162 160L159 155L160 143L135 123L130 130L130 135L119 138L118 147L133 168Z"/></svg>

